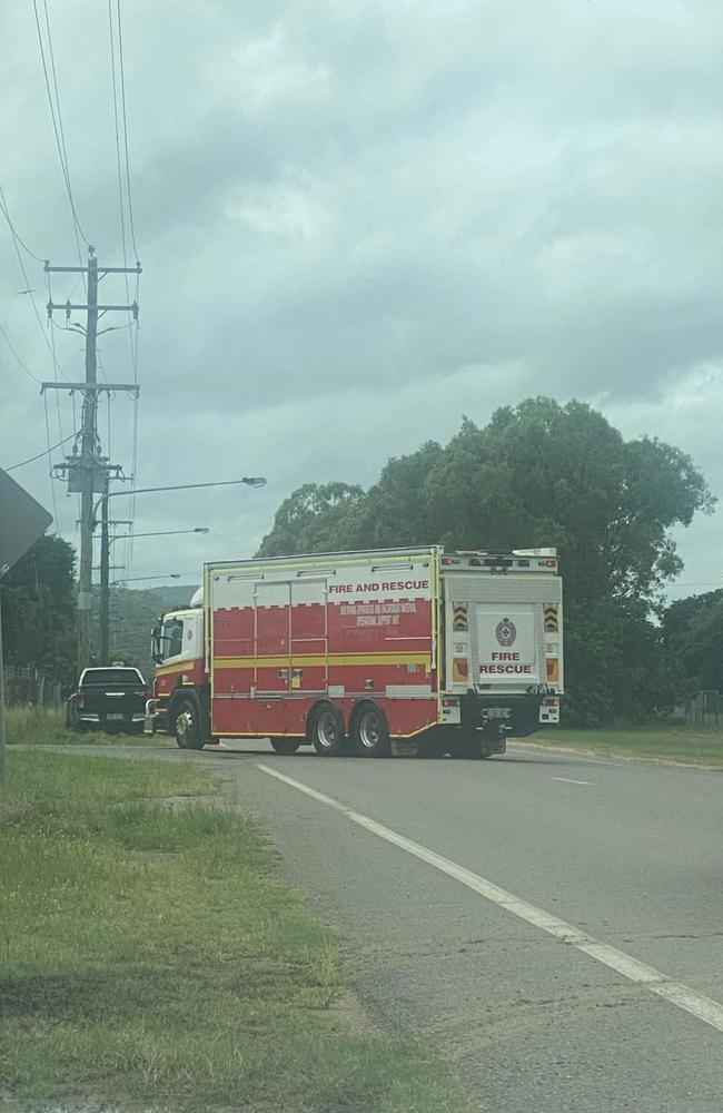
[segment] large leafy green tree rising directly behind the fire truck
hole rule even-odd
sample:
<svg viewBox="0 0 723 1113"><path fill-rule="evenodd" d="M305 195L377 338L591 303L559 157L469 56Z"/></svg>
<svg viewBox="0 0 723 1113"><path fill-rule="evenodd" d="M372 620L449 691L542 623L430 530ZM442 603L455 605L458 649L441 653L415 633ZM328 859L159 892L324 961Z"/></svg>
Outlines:
<svg viewBox="0 0 723 1113"><path fill-rule="evenodd" d="M665 584L682 568L671 531L712 510L690 456L653 437L625 441L603 414L527 398L486 426L465 417L444 447L389 461L365 495L331 502L307 485L279 509L261 555L444 544L555 545L565 583L568 721L643 718L672 706L676 679L660 629Z"/></svg>

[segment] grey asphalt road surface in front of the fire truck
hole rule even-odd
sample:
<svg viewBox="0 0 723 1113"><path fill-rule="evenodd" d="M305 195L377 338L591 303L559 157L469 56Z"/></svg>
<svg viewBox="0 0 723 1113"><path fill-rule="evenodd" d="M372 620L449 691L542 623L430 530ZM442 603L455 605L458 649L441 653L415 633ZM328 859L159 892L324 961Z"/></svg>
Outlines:
<svg viewBox="0 0 723 1113"><path fill-rule="evenodd" d="M434 1044L482 1109L723 1110L721 774L523 746L484 762L166 754L229 778L348 939L369 1015ZM590 936L603 946L580 949Z"/></svg>

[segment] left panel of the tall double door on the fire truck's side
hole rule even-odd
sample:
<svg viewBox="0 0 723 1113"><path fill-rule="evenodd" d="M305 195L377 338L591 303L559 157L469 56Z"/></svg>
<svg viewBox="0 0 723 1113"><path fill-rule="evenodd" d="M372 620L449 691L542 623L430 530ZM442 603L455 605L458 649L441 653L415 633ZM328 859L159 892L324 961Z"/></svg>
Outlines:
<svg viewBox="0 0 723 1113"><path fill-rule="evenodd" d="M257 696L291 688L291 591L287 582L259 580L254 590L254 683Z"/></svg>

